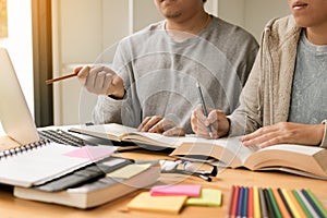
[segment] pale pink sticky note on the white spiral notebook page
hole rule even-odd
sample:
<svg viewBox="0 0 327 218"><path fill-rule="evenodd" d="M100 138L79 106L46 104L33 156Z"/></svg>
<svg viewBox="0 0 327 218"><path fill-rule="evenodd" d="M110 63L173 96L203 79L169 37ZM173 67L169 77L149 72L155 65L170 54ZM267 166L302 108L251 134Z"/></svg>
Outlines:
<svg viewBox="0 0 327 218"><path fill-rule="evenodd" d="M65 156L85 158L89 160L98 160L104 157L110 156L114 152L110 146L84 146L65 153Z"/></svg>

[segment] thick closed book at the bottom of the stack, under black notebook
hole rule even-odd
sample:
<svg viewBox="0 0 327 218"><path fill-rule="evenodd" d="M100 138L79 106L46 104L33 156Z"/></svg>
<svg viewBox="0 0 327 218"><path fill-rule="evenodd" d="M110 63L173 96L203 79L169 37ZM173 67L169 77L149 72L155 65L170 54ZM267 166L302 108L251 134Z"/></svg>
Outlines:
<svg viewBox="0 0 327 218"><path fill-rule="evenodd" d="M132 172L133 174L131 174ZM159 175L160 167L157 162L136 162L118 169L96 181L60 192L15 186L14 196L86 209L152 185L158 180Z"/></svg>

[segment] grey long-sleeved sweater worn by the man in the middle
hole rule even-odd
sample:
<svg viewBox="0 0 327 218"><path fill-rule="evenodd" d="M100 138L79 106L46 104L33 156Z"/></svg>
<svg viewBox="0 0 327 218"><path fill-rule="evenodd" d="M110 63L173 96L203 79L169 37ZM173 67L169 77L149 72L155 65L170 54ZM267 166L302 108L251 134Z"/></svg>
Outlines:
<svg viewBox="0 0 327 218"><path fill-rule="evenodd" d="M120 41L113 70L123 78L125 96L99 96L96 123L138 126L148 116L168 118L192 133L190 116L199 104L196 81L206 105L230 114L247 80L258 45L244 29L214 17L197 36L173 40L165 22Z"/></svg>

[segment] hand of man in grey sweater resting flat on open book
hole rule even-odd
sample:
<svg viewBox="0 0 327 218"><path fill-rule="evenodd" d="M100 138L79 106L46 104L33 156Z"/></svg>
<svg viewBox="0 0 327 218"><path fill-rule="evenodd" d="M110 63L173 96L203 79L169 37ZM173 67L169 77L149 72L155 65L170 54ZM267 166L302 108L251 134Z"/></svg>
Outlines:
<svg viewBox="0 0 327 218"><path fill-rule="evenodd" d="M141 132L161 133L166 136L183 136L185 131L183 128L166 118L159 116L147 117L137 128Z"/></svg>

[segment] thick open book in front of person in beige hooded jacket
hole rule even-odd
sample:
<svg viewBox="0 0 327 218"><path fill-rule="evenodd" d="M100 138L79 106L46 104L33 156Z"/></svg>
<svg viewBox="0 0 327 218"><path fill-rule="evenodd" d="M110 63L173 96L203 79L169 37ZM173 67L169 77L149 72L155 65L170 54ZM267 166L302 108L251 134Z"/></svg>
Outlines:
<svg viewBox="0 0 327 218"><path fill-rule="evenodd" d="M279 144L258 148L243 146L239 137L197 138L196 142L182 143L171 156L184 159L206 157L231 168L281 170L327 180L327 149L322 147Z"/></svg>

